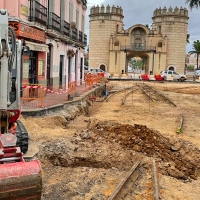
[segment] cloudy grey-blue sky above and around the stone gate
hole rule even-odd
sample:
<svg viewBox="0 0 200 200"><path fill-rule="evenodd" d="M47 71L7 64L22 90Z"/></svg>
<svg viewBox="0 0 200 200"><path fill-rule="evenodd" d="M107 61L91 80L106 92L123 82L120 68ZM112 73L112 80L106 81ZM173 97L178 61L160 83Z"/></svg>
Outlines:
<svg viewBox="0 0 200 200"><path fill-rule="evenodd" d="M188 34L190 34L190 43L186 46L186 53L193 50L192 44L195 40L200 40L200 8L192 10L185 3L185 0L88 0L86 17L86 34L89 40L89 13L92 6L121 6L124 15L124 29L134 24L152 24L153 12L156 8L187 8L188 10Z"/></svg>

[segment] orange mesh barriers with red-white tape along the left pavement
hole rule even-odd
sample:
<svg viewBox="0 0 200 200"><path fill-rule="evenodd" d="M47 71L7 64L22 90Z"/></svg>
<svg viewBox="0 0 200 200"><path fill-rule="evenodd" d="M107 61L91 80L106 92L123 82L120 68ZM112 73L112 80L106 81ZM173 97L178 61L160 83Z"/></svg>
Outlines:
<svg viewBox="0 0 200 200"><path fill-rule="evenodd" d="M104 77L85 74L83 84L78 84L76 81L71 81L68 86L54 86L51 89L44 87L41 84L24 84L23 95L21 98L23 109L33 109L39 107L48 107L56 104L62 104L71 99L71 95L80 95L92 88L92 85L101 82ZM88 87L89 86L89 87ZM59 89L59 88L67 88Z"/></svg>

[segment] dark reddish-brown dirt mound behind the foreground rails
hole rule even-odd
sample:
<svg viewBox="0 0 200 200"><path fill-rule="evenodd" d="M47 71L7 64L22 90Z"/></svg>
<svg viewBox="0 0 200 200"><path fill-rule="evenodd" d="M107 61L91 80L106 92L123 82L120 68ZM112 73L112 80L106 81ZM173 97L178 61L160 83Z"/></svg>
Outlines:
<svg viewBox="0 0 200 200"><path fill-rule="evenodd" d="M196 179L200 169L200 150L189 142L169 139L143 125L98 123L93 129L93 141L103 137L125 148L159 158L160 171L179 179Z"/></svg>

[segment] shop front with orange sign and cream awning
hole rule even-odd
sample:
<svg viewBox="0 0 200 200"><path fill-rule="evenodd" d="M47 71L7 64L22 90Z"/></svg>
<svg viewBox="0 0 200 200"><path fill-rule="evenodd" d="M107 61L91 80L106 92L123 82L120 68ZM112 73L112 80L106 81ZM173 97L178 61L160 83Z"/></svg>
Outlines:
<svg viewBox="0 0 200 200"><path fill-rule="evenodd" d="M46 86L46 60L48 45L45 32L20 22L9 22L16 37L22 40L22 83Z"/></svg>

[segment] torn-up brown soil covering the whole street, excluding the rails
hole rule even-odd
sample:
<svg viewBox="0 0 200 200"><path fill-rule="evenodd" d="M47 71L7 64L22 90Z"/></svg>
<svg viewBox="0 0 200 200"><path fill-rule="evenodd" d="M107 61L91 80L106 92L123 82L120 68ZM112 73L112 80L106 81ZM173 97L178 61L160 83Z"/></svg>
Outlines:
<svg viewBox="0 0 200 200"><path fill-rule="evenodd" d="M43 200L107 199L141 158L147 163L156 159L161 199L200 199L200 86L146 84L176 107L151 101L136 82L109 82L112 90L132 88L124 105L123 97L131 90L89 108L86 101L45 117L21 117L30 142L40 148L36 158L42 165ZM177 133L181 116L182 131ZM126 199L153 199L147 182L138 185Z"/></svg>

